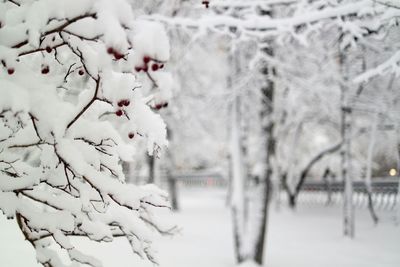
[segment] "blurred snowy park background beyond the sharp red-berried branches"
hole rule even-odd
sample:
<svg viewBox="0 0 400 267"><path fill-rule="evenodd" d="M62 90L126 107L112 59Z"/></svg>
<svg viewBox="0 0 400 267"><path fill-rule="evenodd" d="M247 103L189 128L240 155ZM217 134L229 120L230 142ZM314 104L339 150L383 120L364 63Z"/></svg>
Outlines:
<svg viewBox="0 0 400 267"><path fill-rule="evenodd" d="M399 3L200 2L137 4L171 38L169 149L126 164L170 193L165 266L398 266Z"/></svg>

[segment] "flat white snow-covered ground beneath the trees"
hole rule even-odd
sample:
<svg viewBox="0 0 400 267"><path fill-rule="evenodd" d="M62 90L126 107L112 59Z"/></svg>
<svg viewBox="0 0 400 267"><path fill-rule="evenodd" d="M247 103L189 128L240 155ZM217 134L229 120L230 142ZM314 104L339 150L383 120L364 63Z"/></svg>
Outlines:
<svg viewBox="0 0 400 267"><path fill-rule="evenodd" d="M232 229L225 193L219 189L181 190L181 211L175 220L181 234L161 238L161 267L232 267ZM341 233L339 206L301 206L296 212L271 209L266 266L268 267L398 267L400 226L393 212L381 212L374 226L366 210L357 210L356 238ZM97 255L106 267L153 266L130 253L122 240L114 246L92 246L79 240L85 251ZM23 241L14 222L0 218L0 266L31 267L33 250Z"/></svg>

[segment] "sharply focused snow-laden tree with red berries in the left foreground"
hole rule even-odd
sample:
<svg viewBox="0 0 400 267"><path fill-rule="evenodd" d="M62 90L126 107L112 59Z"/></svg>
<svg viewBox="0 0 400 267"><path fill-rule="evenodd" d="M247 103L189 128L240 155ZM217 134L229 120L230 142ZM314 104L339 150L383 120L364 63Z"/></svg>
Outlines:
<svg viewBox="0 0 400 267"><path fill-rule="evenodd" d="M150 155L167 144L156 111L172 85L163 27L133 12L125 0L0 3L0 210L43 266L101 266L75 236L126 238L156 262L153 234L175 230L157 217L167 195L121 167L137 139Z"/></svg>

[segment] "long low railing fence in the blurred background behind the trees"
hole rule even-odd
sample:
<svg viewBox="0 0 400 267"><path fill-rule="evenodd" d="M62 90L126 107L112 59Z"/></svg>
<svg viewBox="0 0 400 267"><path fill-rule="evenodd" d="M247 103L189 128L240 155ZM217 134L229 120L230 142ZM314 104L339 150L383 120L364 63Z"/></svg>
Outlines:
<svg viewBox="0 0 400 267"><path fill-rule="evenodd" d="M177 184L185 187L227 187L228 179L220 173L165 174L162 182L171 194L172 206L178 206ZM396 206L398 179L374 178L371 182L372 203L377 210L392 210ZM364 181L353 182L353 202L356 208L368 207L367 187ZM341 181L306 181L298 195L297 203L308 205L335 205L343 202L344 183ZM280 201L287 201L281 190Z"/></svg>

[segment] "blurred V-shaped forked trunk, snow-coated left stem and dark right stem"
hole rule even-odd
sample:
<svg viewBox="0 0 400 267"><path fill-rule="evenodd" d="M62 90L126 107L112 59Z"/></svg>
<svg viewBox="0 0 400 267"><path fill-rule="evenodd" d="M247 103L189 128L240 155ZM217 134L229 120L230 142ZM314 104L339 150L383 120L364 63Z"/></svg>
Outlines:
<svg viewBox="0 0 400 267"><path fill-rule="evenodd" d="M272 55L272 51L265 51ZM266 68L263 70L266 77L272 69ZM232 215L233 215L233 230L236 260L238 263L245 260L253 260L258 264L264 262L265 240L267 235L267 219L269 200L271 194L271 177L273 175L272 158L275 156L275 138L274 138L274 120L273 120L273 96L274 84L271 81L262 90L262 110L260 111L260 119L262 122L262 136L265 137L263 146L265 147L263 155L260 159L263 162L264 173L260 177L261 182L257 185L261 189L261 198L253 198L257 203L257 213L249 214L248 218L256 218L255 221L246 221L246 206L245 206L245 182L246 166L243 161L245 150L243 150L243 140L241 138L241 112L240 112L240 98L236 96L232 107ZM261 187L261 188L260 188ZM253 212L253 211L252 211ZM260 214L261 216L254 216ZM245 232L246 229L251 227L252 223L257 229L255 235L250 236L251 232ZM254 229L254 228L253 228ZM251 242L250 247L244 247L243 240ZM251 248L250 251L245 251L246 248Z"/></svg>

